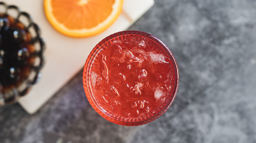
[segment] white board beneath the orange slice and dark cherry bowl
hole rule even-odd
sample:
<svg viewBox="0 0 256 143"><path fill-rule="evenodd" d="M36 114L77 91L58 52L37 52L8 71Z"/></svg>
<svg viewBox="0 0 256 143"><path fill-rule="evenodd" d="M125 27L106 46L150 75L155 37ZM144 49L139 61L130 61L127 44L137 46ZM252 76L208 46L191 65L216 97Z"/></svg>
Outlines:
<svg viewBox="0 0 256 143"><path fill-rule="evenodd" d="M18 101L29 114L40 109L56 91L83 68L87 56L99 41L110 34L126 30L154 5L154 0L124 0L121 15L106 31L94 37L75 39L61 35L53 29L45 17L43 0L4 0L3 2L7 5L16 5L21 11L28 12L41 28L42 38L46 42L44 53L46 63L42 70L42 79L32 87L29 94L19 98Z"/></svg>

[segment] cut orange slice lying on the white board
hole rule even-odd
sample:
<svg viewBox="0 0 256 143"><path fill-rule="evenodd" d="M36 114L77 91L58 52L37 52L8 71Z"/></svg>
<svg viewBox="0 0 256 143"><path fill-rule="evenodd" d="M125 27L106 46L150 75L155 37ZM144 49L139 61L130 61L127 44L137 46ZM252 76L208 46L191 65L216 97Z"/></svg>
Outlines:
<svg viewBox="0 0 256 143"><path fill-rule="evenodd" d="M97 35L113 24L123 0L44 0L45 15L58 32L75 38Z"/></svg>

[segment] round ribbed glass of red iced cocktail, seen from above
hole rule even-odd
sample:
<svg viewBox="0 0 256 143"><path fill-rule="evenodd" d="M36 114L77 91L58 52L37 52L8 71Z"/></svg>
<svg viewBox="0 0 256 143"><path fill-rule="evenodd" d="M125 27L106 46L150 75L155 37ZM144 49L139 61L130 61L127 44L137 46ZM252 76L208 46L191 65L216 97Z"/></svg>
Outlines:
<svg viewBox="0 0 256 143"><path fill-rule="evenodd" d="M103 118L137 126L160 117L179 84L178 66L159 39L140 31L122 31L100 41L88 56L84 90Z"/></svg>

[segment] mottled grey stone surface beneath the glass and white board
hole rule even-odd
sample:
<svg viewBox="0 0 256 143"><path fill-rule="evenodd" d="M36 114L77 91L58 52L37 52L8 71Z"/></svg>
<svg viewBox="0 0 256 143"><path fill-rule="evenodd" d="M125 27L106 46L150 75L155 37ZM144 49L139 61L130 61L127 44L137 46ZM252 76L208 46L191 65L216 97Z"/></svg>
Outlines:
<svg viewBox="0 0 256 143"><path fill-rule="evenodd" d="M256 143L255 0L155 0L129 29L162 40L178 62L178 93L163 116L138 127L103 119L80 71L35 115L1 107L0 142L43 143L50 132L76 143Z"/></svg>

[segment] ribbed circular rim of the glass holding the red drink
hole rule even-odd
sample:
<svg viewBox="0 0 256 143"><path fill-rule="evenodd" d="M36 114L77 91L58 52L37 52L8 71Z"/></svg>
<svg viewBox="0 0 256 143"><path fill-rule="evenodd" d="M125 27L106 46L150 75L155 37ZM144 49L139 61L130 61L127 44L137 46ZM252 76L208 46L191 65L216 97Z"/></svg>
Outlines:
<svg viewBox="0 0 256 143"><path fill-rule="evenodd" d="M90 76L90 65L92 64L92 59L96 57L97 53L99 52L98 49L100 49L104 44L108 43L109 41L120 37L120 36L124 36L124 35L139 35L139 36L144 36L148 39L153 40L154 42L156 42L157 44L160 45L160 47L163 48L163 50L165 50L166 53L168 53L168 56L170 56L173 67L175 68L175 84L174 84L174 89L173 92L170 94L168 101L165 103L165 105L163 107L161 107L161 109L154 114L153 116L145 116L143 117L143 119L138 119L138 118L115 118L115 116L117 116L116 114L112 113L112 114L108 114L106 112L103 112L100 108L100 104L97 103L96 99L94 98L93 92L92 92L92 87L90 84L90 81L88 80ZM92 107L95 109L95 111L102 116L103 118L119 124L119 125L126 125L126 126L137 126L137 125L142 125L142 124L146 124L148 122L151 122L157 118L159 118L161 115L163 115L164 112L167 111L167 109L170 107L170 105L172 104L172 102L174 101L174 98L176 97L176 93L177 93L177 89L178 89L178 85L179 85L179 69L178 69L178 65L177 62L172 54L172 52L170 51L170 49L158 38L156 38L155 36L142 32L142 31L135 31L135 30L126 30L126 31L120 31L114 34L111 34L109 36L107 36L106 38L104 38L103 40L101 40L91 51L90 55L87 57L86 59L86 63L83 69L83 87L84 87L84 91L86 93L86 97L89 101L89 103L92 105ZM119 115L118 115L119 116ZM118 117L117 116L117 117ZM129 120L127 120L129 119ZM138 120L136 120L138 119Z"/></svg>

